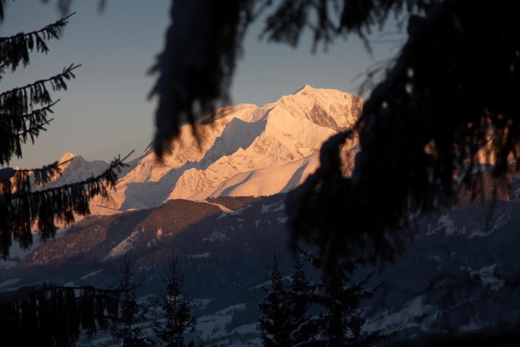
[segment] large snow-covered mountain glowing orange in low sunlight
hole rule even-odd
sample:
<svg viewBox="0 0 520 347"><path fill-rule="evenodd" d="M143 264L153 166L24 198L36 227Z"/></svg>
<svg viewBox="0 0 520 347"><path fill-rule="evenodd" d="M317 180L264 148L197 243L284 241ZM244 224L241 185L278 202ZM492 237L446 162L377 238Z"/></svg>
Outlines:
<svg viewBox="0 0 520 347"><path fill-rule="evenodd" d="M183 126L162 162L149 146L116 191L95 203L127 210L156 207L170 199L288 191L316 170L321 144L352 125L362 104L354 94L306 85L261 107L220 109L217 119L197 123L199 143L191 126ZM356 142L350 140L344 150Z"/></svg>

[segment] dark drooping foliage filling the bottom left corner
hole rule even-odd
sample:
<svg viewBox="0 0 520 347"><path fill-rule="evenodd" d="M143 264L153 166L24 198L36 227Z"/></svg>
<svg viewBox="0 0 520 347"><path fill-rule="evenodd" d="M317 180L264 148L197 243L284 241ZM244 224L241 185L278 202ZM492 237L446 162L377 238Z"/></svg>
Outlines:
<svg viewBox="0 0 520 347"><path fill-rule="evenodd" d="M118 317L119 292L93 287L42 287L0 302L0 339L11 346L70 346ZM5 343L5 344L4 344Z"/></svg>

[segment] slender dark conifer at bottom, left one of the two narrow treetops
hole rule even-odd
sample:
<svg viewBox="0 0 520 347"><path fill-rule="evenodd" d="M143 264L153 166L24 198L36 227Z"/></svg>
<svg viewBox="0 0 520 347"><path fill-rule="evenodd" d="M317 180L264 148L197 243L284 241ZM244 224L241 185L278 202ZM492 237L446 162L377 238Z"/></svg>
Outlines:
<svg viewBox="0 0 520 347"><path fill-rule="evenodd" d="M130 255L125 254L120 264L119 284L115 287L121 293L120 317L111 327L111 335L120 340L124 347L152 346L153 342L142 337L143 332L139 323L143 322L148 311L148 306L137 302L137 290L140 281L130 269Z"/></svg>

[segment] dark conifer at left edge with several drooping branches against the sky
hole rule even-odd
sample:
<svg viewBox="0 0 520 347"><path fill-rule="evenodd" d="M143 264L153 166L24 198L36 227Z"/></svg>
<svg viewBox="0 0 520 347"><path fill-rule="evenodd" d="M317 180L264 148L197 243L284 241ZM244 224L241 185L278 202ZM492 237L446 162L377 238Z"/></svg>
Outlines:
<svg viewBox="0 0 520 347"><path fill-rule="evenodd" d="M0 1L0 20L3 19L3 1ZM70 15L72 16L72 15ZM45 28L16 35L0 37L0 82L8 69L15 72L20 64L30 63L33 51L47 53L48 40L58 38L59 31L68 24L64 17ZM13 157L22 158L22 145L35 139L53 120L48 118L59 100L53 101L50 91L67 89L67 82L75 78L74 70L81 65L71 64L47 79L14 87L0 93L0 253L6 259L12 239L22 249L32 244L32 229L46 240L54 237L56 222L69 225L74 213L88 215L88 201L96 195L107 195L113 188L117 174L125 166L120 157L96 177L60 187L45 189L45 184L60 172L54 162L37 169L9 167Z"/></svg>

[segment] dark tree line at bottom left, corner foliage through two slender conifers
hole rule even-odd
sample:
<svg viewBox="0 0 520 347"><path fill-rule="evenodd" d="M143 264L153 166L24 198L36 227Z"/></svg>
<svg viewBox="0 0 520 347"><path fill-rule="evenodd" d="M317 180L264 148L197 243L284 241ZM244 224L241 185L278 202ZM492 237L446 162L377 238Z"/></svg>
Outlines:
<svg viewBox="0 0 520 347"><path fill-rule="evenodd" d="M119 264L119 282L109 289L44 284L0 303L2 344L70 346L80 339L92 340L101 330L109 333L110 344L185 347L185 333L194 330L196 317L191 315L193 298L183 292L184 271L177 258L170 256L161 275L162 290L154 304L162 311L162 318L153 319L153 333L145 333L141 327L150 320L151 304L138 300L142 280L132 272L130 254L124 254ZM194 340L186 345L201 346Z"/></svg>

